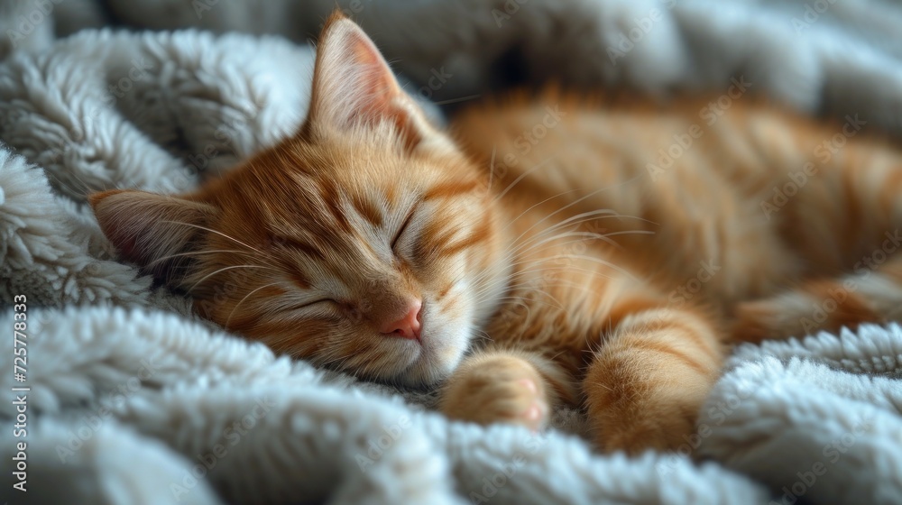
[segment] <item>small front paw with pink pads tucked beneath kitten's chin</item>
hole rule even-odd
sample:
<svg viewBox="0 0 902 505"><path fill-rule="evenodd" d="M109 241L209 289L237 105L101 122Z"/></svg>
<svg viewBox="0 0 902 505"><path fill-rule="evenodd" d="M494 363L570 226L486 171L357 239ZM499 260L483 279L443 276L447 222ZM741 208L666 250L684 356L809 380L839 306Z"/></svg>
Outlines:
<svg viewBox="0 0 902 505"><path fill-rule="evenodd" d="M548 424L548 395L529 362L498 354L465 363L448 380L441 411L482 425L509 423L538 431Z"/></svg>

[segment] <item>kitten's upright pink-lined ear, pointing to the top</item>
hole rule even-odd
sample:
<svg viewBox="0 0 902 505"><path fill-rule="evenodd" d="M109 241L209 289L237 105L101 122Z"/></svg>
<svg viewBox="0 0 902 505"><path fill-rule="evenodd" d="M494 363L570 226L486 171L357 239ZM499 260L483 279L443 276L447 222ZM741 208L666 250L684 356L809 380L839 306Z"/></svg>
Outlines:
<svg viewBox="0 0 902 505"><path fill-rule="evenodd" d="M326 23L317 49L313 93L302 133L393 123L408 147L437 135L398 84L366 33L341 14Z"/></svg>

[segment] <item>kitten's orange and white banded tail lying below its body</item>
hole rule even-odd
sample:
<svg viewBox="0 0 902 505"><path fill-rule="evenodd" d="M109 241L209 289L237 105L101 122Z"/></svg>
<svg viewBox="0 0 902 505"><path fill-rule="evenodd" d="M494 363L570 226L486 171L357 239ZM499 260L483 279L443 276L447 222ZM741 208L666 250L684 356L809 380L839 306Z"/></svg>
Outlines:
<svg viewBox="0 0 902 505"><path fill-rule="evenodd" d="M758 343L902 321L902 244L883 245L848 275L808 280L777 296L741 303L734 314L733 341Z"/></svg>

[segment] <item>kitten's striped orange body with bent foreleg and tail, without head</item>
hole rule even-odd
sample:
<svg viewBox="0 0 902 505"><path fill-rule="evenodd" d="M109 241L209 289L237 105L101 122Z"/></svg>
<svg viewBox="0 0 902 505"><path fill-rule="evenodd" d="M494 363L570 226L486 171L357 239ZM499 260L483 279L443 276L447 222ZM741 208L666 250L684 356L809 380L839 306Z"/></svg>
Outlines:
<svg viewBox="0 0 902 505"><path fill-rule="evenodd" d="M856 116L713 98L552 92L454 124L516 251L485 332L554 356L605 447L678 444L721 344L902 317L902 153Z"/></svg>

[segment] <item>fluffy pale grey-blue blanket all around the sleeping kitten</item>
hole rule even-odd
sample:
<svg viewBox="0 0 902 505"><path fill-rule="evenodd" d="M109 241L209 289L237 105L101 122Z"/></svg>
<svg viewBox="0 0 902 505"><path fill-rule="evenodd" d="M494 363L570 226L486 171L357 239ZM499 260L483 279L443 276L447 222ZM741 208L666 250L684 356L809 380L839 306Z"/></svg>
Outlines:
<svg viewBox="0 0 902 505"><path fill-rule="evenodd" d="M116 262L87 193L186 191L292 132L313 52L259 34L302 42L334 5L0 0L0 327L14 326L10 302L26 295L30 358L26 381L15 381L12 359L0 374L7 391L30 388L29 491L14 490L11 475L0 499L902 502L895 324L741 346L686 444L627 458L595 454L575 410L556 412L539 435L475 427L431 411L428 391L275 356ZM888 3L341 5L424 99L455 101L511 76L652 93L744 76L788 106L902 126L902 9ZM258 35L88 30L57 40L110 21ZM14 341L2 345L12 356ZM0 409L9 426L17 394ZM22 440L4 430L6 462Z"/></svg>

